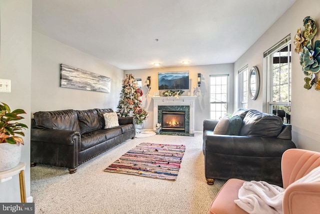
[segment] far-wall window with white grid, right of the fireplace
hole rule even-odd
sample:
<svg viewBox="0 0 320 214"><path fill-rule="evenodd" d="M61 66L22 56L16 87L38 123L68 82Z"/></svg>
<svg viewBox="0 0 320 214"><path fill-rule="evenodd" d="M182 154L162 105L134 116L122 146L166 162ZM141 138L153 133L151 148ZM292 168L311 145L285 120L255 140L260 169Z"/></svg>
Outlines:
<svg viewBox="0 0 320 214"><path fill-rule="evenodd" d="M228 111L229 75L210 75L210 118L218 120Z"/></svg>

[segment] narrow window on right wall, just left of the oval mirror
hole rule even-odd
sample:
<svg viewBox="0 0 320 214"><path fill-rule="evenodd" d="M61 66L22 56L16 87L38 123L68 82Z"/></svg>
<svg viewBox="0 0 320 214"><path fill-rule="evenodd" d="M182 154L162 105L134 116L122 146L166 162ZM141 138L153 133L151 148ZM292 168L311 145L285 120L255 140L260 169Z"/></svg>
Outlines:
<svg viewBox="0 0 320 214"><path fill-rule="evenodd" d="M239 108L248 108L248 65L238 71Z"/></svg>

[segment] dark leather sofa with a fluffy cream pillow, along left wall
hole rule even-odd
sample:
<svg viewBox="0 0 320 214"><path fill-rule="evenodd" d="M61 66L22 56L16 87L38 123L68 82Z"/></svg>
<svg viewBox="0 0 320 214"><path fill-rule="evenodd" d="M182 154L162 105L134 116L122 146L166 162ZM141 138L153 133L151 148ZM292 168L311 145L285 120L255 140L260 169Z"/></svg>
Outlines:
<svg viewBox="0 0 320 214"><path fill-rule="evenodd" d="M43 163L67 167L79 164L134 138L135 119L119 117L119 126L104 129L103 113L112 109L59 110L34 113L31 121L31 166Z"/></svg>

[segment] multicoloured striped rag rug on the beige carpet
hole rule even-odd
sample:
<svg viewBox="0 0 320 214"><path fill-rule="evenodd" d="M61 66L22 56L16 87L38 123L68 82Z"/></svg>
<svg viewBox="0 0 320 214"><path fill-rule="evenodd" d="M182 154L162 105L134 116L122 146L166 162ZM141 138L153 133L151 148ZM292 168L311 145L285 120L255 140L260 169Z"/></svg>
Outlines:
<svg viewBox="0 0 320 214"><path fill-rule="evenodd" d="M184 151L184 145L140 143L104 171L175 180Z"/></svg>

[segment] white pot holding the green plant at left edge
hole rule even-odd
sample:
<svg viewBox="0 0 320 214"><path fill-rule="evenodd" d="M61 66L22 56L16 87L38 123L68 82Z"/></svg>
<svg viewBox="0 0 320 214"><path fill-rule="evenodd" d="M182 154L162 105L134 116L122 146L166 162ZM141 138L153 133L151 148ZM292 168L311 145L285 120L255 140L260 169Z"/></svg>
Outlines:
<svg viewBox="0 0 320 214"><path fill-rule="evenodd" d="M20 159L20 144L0 143L0 172L17 166Z"/></svg>

